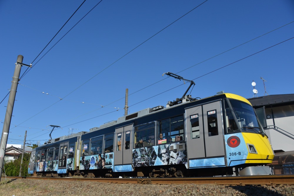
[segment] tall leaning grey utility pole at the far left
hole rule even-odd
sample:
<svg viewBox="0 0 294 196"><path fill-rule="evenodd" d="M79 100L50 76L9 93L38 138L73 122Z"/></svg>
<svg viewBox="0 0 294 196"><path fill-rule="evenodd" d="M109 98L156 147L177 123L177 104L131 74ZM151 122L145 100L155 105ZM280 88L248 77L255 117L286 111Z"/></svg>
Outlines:
<svg viewBox="0 0 294 196"><path fill-rule="evenodd" d="M19 75L21 70L21 65L19 63L22 63L23 59L24 57L21 55L17 57L16 62L18 63L16 63L15 65L14 74L12 77L13 80L11 84L11 89L10 89L10 94L9 94L9 99L8 99L8 104L6 109L6 115L5 115L3 130L2 130L1 145L0 145L0 181L1 181L2 169L4 166L4 156L5 156L6 144L7 144L8 133L10 128L12 110L13 110L13 105L14 105L14 100L15 100L15 95L16 95L16 90L17 90L17 85L19 82Z"/></svg>

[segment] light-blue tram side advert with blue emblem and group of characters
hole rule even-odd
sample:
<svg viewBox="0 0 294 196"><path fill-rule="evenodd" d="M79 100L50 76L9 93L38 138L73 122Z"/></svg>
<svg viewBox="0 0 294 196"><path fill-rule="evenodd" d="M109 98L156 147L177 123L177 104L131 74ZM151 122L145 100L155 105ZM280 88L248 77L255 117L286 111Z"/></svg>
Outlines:
<svg viewBox="0 0 294 196"><path fill-rule="evenodd" d="M98 155L90 155L80 157L80 170L94 170L94 169L112 169L113 158L109 158L113 153L105 153Z"/></svg>

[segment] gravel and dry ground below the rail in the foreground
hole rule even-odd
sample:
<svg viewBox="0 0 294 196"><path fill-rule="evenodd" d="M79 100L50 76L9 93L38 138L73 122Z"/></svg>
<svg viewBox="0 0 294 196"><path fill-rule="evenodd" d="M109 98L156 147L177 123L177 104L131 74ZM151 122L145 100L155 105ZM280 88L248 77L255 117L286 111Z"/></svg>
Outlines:
<svg viewBox="0 0 294 196"><path fill-rule="evenodd" d="M7 179L2 177L0 195L293 195L294 185L160 185L85 181Z"/></svg>

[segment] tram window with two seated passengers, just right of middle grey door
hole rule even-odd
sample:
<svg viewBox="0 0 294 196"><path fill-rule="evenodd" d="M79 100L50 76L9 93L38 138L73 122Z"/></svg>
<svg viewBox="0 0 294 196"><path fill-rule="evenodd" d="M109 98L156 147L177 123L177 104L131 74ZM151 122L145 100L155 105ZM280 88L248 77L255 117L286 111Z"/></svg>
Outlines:
<svg viewBox="0 0 294 196"><path fill-rule="evenodd" d="M134 148L154 145L155 123L146 123L135 127Z"/></svg>

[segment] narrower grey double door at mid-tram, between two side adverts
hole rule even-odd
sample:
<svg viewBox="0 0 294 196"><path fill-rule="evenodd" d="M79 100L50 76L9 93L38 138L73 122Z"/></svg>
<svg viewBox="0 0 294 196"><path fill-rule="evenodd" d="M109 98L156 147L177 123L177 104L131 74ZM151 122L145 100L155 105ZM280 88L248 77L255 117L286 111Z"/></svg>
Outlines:
<svg viewBox="0 0 294 196"><path fill-rule="evenodd" d="M132 164L133 125L115 130L114 165Z"/></svg>

